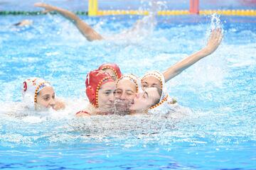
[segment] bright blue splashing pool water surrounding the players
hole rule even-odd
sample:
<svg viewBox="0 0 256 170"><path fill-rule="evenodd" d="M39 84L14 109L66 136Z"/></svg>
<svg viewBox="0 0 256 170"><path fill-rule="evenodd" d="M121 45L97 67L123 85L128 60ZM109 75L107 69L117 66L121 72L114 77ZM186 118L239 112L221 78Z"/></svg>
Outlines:
<svg viewBox="0 0 256 170"><path fill-rule="evenodd" d="M11 26L25 18L33 25ZM74 117L91 69L164 71L200 50L210 29L210 18L178 16L124 32L138 18L82 16L108 38L87 42L60 16L0 16L0 169L255 169L255 18L220 18L218 50L167 83L183 118ZM53 84L65 111L21 108L23 79L35 76Z"/></svg>

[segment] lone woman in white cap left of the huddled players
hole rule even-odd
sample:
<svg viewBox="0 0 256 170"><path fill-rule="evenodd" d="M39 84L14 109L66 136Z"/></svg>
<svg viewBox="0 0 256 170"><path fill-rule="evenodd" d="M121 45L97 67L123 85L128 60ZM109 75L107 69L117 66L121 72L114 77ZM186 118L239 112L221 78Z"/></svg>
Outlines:
<svg viewBox="0 0 256 170"><path fill-rule="evenodd" d="M55 98L53 86L37 77L26 79L23 82L22 96L25 107L36 111L46 108L53 108L58 111L65 108L65 104Z"/></svg>

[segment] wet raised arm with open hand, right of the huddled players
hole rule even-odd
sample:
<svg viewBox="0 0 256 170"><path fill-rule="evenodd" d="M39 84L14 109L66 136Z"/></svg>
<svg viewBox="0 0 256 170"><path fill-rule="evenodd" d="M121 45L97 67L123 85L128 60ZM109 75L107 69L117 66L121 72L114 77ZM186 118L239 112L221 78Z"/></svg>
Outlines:
<svg viewBox="0 0 256 170"><path fill-rule="evenodd" d="M195 64L196 62L201 60L203 57L206 57L212 54L220 45L222 38L223 38L223 34L220 28L212 30L212 33L210 34L210 38L207 42L206 47L203 47L203 49L199 50L196 53L193 53L192 55L186 57L180 62L177 62L176 64L171 66L169 69L166 69L166 71L164 71L163 74L164 74L165 81L167 82L170 79L176 77L178 74L183 72L183 70L187 69L188 67L191 67L191 65Z"/></svg>

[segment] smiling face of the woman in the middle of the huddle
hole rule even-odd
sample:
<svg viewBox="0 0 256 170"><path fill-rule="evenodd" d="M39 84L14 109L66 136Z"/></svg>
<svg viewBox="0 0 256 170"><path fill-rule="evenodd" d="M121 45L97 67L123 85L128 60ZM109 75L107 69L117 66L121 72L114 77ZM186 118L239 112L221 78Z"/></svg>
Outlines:
<svg viewBox="0 0 256 170"><path fill-rule="evenodd" d="M136 89L136 84L131 80L125 78L119 80L117 83L117 90L115 91L117 108L121 108L121 110L128 109L136 96Z"/></svg>

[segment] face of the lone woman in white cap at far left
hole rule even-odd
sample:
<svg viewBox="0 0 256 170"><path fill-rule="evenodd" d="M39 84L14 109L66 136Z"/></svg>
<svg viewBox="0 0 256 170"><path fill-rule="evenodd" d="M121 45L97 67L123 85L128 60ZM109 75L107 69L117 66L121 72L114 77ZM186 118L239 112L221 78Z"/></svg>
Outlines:
<svg viewBox="0 0 256 170"><path fill-rule="evenodd" d="M53 87L46 86L41 91L36 98L37 108L53 108L55 107L55 92Z"/></svg>

